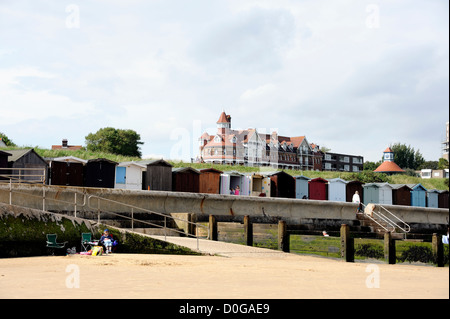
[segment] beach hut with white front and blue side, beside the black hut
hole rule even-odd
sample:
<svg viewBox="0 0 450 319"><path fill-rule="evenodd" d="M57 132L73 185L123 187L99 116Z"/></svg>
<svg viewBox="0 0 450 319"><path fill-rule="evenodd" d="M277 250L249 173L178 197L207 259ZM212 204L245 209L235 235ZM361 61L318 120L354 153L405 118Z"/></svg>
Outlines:
<svg viewBox="0 0 450 319"><path fill-rule="evenodd" d="M116 167L115 188L142 190L144 164L136 162L122 162Z"/></svg>

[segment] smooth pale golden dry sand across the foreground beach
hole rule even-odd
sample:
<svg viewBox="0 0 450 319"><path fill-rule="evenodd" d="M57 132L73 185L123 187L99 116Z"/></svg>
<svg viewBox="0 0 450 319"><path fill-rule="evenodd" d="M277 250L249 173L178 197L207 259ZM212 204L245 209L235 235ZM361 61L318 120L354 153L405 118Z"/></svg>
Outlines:
<svg viewBox="0 0 450 319"><path fill-rule="evenodd" d="M111 297L448 299L449 268L346 263L285 253L0 259L0 298Z"/></svg>

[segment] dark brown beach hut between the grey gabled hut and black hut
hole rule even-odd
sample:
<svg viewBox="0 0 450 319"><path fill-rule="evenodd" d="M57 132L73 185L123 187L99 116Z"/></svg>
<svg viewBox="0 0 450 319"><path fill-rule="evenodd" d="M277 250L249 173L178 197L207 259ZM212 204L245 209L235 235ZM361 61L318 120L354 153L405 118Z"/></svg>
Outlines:
<svg viewBox="0 0 450 319"><path fill-rule="evenodd" d="M87 160L74 156L57 157L48 161L49 184L84 186L84 166Z"/></svg>

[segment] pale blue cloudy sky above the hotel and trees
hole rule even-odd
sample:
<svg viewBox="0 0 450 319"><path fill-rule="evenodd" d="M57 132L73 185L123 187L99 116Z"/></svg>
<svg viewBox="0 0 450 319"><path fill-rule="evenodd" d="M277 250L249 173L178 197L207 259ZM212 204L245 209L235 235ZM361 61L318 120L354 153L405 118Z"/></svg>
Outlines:
<svg viewBox="0 0 450 319"><path fill-rule="evenodd" d="M381 160L441 157L447 0L0 0L0 132L84 145L132 129L144 158L189 161L220 113Z"/></svg>

